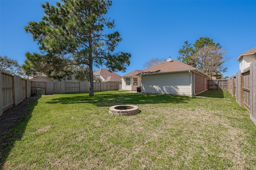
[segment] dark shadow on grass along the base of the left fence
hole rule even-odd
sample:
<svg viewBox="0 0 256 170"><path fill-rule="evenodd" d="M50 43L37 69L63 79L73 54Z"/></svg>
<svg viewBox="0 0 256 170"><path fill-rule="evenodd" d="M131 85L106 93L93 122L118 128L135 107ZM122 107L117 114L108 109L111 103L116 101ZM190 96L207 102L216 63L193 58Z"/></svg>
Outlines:
<svg viewBox="0 0 256 170"><path fill-rule="evenodd" d="M3 168L15 141L19 141L22 138L39 98L41 96L30 97L18 106L4 111L3 115L1 115L0 169Z"/></svg>

